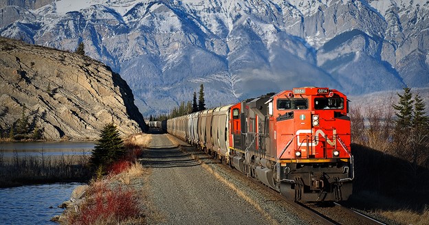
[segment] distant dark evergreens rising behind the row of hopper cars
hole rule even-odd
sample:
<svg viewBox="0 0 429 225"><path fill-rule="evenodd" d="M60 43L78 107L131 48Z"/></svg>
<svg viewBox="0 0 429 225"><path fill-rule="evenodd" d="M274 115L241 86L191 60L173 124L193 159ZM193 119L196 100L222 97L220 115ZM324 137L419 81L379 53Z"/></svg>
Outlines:
<svg viewBox="0 0 429 225"><path fill-rule="evenodd" d="M192 97L192 102L180 102L179 107L173 108L171 112L166 115L159 115L158 117L153 117L152 115L149 117L149 121L164 121L167 119L180 117L183 115L188 115L192 112L199 112L201 110L206 110L206 103L204 100L204 86L201 84L199 86L199 97L197 101L197 93L194 91L194 95Z"/></svg>

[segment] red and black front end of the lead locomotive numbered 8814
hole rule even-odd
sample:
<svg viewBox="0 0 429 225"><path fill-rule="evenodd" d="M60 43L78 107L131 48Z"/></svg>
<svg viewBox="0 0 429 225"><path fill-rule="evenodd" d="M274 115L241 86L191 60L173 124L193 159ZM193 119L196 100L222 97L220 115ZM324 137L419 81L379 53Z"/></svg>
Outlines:
<svg viewBox="0 0 429 225"><path fill-rule="evenodd" d="M272 97L280 191L298 201L344 200L353 157L347 97L328 88L294 88Z"/></svg>

